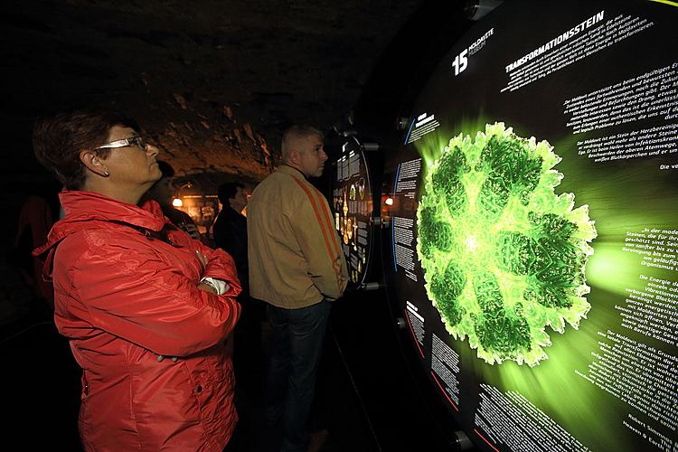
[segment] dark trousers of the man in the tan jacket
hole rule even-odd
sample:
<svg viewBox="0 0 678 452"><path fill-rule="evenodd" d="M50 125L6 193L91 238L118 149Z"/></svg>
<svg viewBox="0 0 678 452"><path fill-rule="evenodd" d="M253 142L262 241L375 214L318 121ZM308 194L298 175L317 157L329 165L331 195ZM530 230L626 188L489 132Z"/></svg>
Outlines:
<svg viewBox="0 0 678 452"><path fill-rule="evenodd" d="M269 450L306 451L306 424L331 306L325 300L299 309L267 306L272 329L265 394Z"/></svg>

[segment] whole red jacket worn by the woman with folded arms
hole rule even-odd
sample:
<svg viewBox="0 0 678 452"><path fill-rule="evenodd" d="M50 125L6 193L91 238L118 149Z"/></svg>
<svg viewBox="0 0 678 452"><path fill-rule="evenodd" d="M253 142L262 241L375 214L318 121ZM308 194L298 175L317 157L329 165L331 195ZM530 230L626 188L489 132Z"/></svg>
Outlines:
<svg viewBox="0 0 678 452"><path fill-rule="evenodd" d="M231 256L166 224L156 202L60 197L66 217L33 254L49 250L54 320L83 370L83 446L221 451L238 419L224 353L240 315ZM168 229L171 243L158 233ZM196 250L209 259L204 269ZM212 295L197 288L202 277L231 288ZM159 354L179 359L158 363Z"/></svg>

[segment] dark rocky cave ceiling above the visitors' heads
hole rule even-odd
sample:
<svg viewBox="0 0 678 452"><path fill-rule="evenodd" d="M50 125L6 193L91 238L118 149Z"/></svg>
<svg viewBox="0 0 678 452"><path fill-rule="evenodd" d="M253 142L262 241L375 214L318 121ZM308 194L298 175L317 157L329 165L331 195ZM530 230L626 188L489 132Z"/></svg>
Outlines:
<svg viewBox="0 0 678 452"><path fill-rule="evenodd" d="M421 1L4 2L4 174L37 174L35 118L110 106L178 174L256 182L293 123L345 118ZM18 168L18 170L17 170Z"/></svg>

